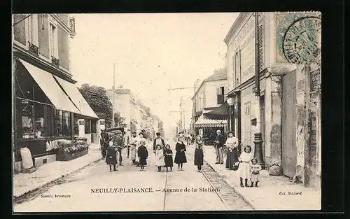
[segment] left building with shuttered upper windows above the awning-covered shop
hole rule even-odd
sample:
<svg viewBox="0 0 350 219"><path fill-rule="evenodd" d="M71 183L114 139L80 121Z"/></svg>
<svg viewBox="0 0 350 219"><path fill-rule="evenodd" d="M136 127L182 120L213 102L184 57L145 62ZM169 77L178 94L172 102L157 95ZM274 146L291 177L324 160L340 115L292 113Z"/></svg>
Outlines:
<svg viewBox="0 0 350 219"><path fill-rule="evenodd" d="M97 115L72 79L69 42L75 34L68 14L13 15L13 151L18 168L22 147L29 148L37 167L55 160L57 151L48 151L48 141L85 138L79 129L85 121L96 132Z"/></svg>

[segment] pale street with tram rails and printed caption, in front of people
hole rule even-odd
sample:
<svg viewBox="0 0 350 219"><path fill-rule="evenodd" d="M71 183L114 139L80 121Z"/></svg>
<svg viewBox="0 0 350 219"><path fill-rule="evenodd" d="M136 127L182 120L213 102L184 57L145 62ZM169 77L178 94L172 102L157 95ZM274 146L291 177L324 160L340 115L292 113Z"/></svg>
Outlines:
<svg viewBox="0 0 350 219"><path fill-rule="evenodd" d="M175 143L170 144L173 152ZM190 147L189 147L190 148ZM193 165L188 154L185 171L157 172L153 162L153 149L148 145L148 166L139 171L124 155L125 166L109 172L103 160L77 174L69 176L46 190L38 192L25 202L14 206L16 212L36 211L225 211L249 209L243 200L228 207L212 191L211 183ZM92 193L94 189L112 188L109 193ZM118 192L113 189L116 188ZM125 188L125 190L120 190ZM151 192L128 192L128 189L150 188ZM188 191L185 190L188 188ZM200 188L211 192L200 192ZM165 192L167 190L168 192ZM169 190L172 190L169 192ZM197 190L197 192L195 192ZM51 196L50 196L51 195ZM66 195L69 197L55 197ZM237 199L240 199L237 196ZM45 206L45 208L43 208ZM37 209L36 209L37 208Z"/></svg>

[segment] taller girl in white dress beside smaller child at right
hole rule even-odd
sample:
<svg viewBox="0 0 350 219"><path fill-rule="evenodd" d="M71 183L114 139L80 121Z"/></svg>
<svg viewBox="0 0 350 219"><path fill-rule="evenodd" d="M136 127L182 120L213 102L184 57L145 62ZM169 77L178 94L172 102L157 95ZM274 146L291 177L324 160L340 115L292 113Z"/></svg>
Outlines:
<svg viewBox="0 0 350 219"><path fill-rule="evenodd" d="M238 167L238 176L240 180L241 187L249 187L248 178L251 178L251 165L250 162L253 159L253 155L251 154L251 146L245 146L244 152L241 153L238 160L240 162ZM243 185L244 179L244 185Z"/></svg>

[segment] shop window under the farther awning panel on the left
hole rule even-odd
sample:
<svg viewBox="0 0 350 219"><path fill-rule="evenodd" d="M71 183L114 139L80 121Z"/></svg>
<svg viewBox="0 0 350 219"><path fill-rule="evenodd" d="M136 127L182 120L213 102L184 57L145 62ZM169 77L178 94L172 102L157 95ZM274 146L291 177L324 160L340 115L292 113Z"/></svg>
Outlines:
<svg viewBox="0 0 350 219"><path fill-rule="evenodd" d="M71 136L71 113L55 110L55 136Z"/></svg>

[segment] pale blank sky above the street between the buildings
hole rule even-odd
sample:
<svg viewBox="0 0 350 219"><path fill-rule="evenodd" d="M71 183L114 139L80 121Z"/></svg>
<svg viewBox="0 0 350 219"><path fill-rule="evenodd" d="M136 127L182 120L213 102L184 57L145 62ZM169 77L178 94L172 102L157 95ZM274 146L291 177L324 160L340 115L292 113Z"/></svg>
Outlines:
<svg viewBox="0 0 350 219"><path fill-rule="evenodd" d="M238 13L75 14L71 70L77 85L129 88L165 125L189 125L195 80L225 66L223 42ZM165 127L167 128L167 127ZM169 127L168 127L169 128Z"/></svg>

